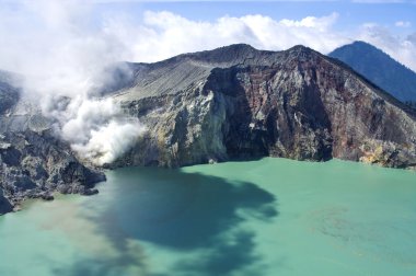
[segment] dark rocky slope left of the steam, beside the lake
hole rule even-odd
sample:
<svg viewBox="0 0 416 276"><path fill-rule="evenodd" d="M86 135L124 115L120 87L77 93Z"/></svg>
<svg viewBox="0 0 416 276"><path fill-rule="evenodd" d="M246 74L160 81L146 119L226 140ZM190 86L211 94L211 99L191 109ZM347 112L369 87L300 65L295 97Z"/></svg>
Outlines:
<svg viewBox="0 0 416 276"><path fill-rule="evenodd" d="M0 72L1 74L1 72ZM0 78L0 215L25 198L53 193L91 194L104 174L82 164L54 135L51 123L20 99L10 78ZM1 76L0 76L1 77Z"/></svg>

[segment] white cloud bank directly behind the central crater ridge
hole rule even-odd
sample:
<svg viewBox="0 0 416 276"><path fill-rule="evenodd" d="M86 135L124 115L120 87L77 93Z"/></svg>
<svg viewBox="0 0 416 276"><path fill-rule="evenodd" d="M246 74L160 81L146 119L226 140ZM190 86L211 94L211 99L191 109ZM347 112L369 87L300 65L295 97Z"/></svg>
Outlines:
<svg viewBox="0 0 416 276"><path fill-rule="evenodd" d="M157 61L187 51L246 43L261 49L281 50L297 44L327 53L350 42L332 30L337 13L299 21L276 21L261 14L222 16L213 22L192 21L171 12L147 11L141 25L108 20L107 34L125 42L132 60Z"/></svg>

